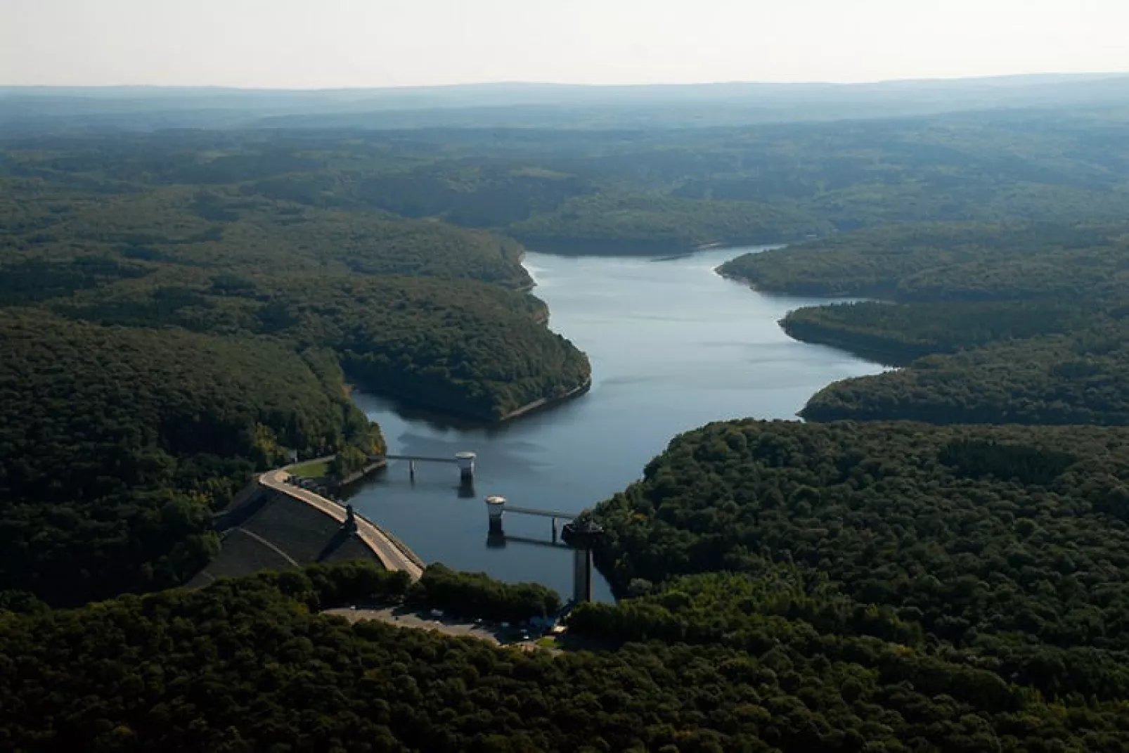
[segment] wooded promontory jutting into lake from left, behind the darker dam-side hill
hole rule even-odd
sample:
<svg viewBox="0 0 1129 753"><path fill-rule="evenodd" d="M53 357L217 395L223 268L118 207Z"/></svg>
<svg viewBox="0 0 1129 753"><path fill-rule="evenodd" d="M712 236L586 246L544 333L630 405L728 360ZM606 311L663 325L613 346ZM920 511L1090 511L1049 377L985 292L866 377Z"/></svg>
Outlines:
<svg viewBox="0 0 1129 753"><path fill-rule="evenodd" d="M175 143L154 147L154 167L165 151L174 164L183 158ZM217 174L199 166L177 176L187 172L204 187L163 185L129 169L129 157L114 163L112 150L98 159L64 154L35 177L6 181L0 303L325 347L377 392L483 420L587 379L584 356L543 326L540 301L519 292L532 281L511 239L217 185L256 174L250 156L211 167ZM94 181L103 189L80 191Z"/></svg>

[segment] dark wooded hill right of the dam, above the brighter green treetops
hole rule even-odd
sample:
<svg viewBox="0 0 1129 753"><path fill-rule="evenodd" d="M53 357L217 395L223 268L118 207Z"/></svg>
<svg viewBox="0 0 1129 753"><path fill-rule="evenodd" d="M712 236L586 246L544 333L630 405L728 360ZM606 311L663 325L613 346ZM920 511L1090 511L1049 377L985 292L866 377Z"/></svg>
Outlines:
<svg viewBox="0 0 1129 753"><path fill-rule="evenodd" d="M1122 429L716 423L597 508L597 561L621 589L795 563L957 643L1129 648L1127 467Z"/></svg>

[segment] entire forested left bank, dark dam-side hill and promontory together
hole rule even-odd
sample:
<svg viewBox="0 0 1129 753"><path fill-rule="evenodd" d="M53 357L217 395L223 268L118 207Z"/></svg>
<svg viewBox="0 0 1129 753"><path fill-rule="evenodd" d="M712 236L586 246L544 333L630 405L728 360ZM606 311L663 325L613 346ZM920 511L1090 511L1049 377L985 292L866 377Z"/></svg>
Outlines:
<svg viewBox="0 0 1129 753"><path fill-rule="evenodd" d="M517 242L256 194L248 176L318 163L200 140L224 137L3 152L3 603L191 578L255 471L382 449L347 378L480 421L588 379Z"/></svg>

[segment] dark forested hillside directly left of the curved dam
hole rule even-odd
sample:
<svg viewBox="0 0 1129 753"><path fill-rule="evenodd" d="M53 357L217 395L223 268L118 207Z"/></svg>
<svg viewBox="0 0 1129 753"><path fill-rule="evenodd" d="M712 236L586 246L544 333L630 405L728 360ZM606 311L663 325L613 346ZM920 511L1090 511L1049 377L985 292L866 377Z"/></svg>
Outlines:
<svg viewBox="0 0 1129 753"><path fill-rule="evenodd" d="M255 469L383 447L327 351L11 309L0 350L0 597L177 585Z"/></svg>

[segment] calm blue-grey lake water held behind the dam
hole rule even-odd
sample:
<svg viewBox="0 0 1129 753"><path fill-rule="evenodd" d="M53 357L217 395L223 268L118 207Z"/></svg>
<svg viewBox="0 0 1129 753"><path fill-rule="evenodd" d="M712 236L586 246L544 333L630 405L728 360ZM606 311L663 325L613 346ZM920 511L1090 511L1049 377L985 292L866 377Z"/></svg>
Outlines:
<svg viewBox="0 0 1129 753"><path fill-rule="evenodd" d="M355 492L357 510L429 562L570 594L568 550L533 543L550 541L550 520L507 515L506 545L488 546L484 496L579 511L639 479L677 434L724 419L795 419L826 384L882 370L796 342L777 324L794 308L825 301L761 295L714 272L745 251L665 261L528 254L525 266L549 304L550 325L592 360L592 391L492 429L452 426L357 394L390 453L478 453L473 498L460 498L454 466L421 464L412 482L408 464L393 462ZM611 597L602 579L596 592Z"/></svg>

